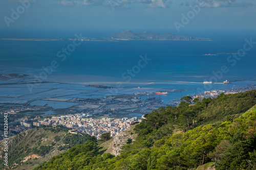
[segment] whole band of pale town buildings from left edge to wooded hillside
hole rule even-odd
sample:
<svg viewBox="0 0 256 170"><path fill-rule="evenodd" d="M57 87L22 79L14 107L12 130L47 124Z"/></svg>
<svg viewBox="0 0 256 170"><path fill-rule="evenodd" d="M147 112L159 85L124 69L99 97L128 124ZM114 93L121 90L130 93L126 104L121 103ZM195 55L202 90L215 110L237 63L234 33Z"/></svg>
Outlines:
<svg viewBox="0 0 256 170"><path fill-rule="evenodd" d="M112 137L115 137L121 131L129 128L131 125L139 123L144 119L144 115L141 118L101 118L94 119L87 113L75 114L75 115L62 115L59 117L48 117L40 120L40 117L31 118L18 118L14 122L9 123L9 136L14 136L20 132L32 129L33 127L56 127L63 126L71 128L70 133L84 134L87 133L91 136L95 136L98 139L100 135L105 132L110 132Z"/></svg>

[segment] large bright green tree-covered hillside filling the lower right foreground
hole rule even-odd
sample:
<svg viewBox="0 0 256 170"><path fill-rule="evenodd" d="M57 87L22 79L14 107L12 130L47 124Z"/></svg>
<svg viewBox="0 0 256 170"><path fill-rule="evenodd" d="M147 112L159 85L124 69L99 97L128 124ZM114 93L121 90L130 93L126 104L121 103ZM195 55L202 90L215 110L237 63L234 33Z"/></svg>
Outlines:
<svg viewBox="0 0 256 170"><path fill-rule="evenodd" d="M185 101L145 115L119 156L92 137L35 169L256 169L256 90Z"/></svg>

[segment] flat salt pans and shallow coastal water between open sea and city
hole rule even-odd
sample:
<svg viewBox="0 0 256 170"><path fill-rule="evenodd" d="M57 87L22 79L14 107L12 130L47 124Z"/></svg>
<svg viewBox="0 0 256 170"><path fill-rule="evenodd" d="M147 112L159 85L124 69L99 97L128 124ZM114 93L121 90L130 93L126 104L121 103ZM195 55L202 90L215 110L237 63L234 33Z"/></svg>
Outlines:
<svg viewBox="0 0 256 170"><path fill-rule="evenodd" d="M2 75L9 76L8 74ZM17 75L20 76L19 79L16 79ZM139 102L140 100L156 98L157 100L161 100L160 103L156 103L156 106L166 106L167 103L179 100L182 96L195 96L196 94L199 94L198 89L204 89L205 86L205 84L201 82L191 83L184 81L170 81L167 83L167 81L162 81L162 83L154 82L147 84L141 82L141 86L134 86L135 84L131 84L130 86L109 88L110 86L96 84L96 82L93 85L88 85L89 83L81 84L57 81L34 82L30 76L24 74L17 75L12 74L13 77L9 76L7 80L1 79L2 83L0 84L0 90L3 92L0 96L1 104L26 104L31 101L58 101L63 103L77 102L79 105L81 102L76 99L101 100L106 98L116 98L119 100L120 98L120 100L123 101L126 98L130 98L130 100L134 98ZM252 85L255 84L255 81L255 79L234 80L230 81L231 84L219 83L210 85L212 86L212 90L232 89L234 86L236 86L235 89L241 87L246 89L247 87L252 87ZM209 86L209 84L206 86ZM20 92L16 93L15 91ZM157 95L155 94L156 91L169 92L170 95ZM209 90L205 89L204 91Z"/></svg>

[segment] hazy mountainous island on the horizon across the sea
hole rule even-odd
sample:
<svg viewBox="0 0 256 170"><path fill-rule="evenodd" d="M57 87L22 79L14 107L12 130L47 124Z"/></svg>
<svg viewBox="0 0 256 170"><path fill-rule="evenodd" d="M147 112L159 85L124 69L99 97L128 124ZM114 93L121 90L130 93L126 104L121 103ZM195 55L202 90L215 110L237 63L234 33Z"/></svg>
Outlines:
<svg viewBox="0 0 256 170"><path fill-rule="evenodd" d="M151 31L145 31L143 33L124 31L114 33L110 38L113 40L202 40L200 38L190 37L187 35L174 35L170 33L159 34Z"/></svg>

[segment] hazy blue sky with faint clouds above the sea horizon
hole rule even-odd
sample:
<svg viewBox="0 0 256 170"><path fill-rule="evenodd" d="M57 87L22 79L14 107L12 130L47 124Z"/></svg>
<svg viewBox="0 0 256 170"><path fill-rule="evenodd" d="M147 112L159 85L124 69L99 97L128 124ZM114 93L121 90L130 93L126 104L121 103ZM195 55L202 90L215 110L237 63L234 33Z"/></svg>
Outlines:
<svg viewBox="0 0 256 170"><path fill-rule="evenodd" d="M0 0L2 31L256 30L255 16L255 0Z"/></svg>

